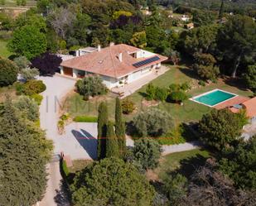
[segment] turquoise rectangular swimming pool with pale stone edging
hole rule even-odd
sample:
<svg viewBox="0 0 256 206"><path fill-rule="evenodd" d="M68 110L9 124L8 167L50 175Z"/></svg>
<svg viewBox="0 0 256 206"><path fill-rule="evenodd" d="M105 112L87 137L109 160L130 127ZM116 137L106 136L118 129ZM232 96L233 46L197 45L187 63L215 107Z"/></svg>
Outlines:
<svg viewBox="0 0 256 206"><path fill-rule="evenodd" d="M196 103L201 103L209 107L214 107L219 103L223 103L230 98L234 98L237 95L234 93L225 92L221 89L214 89L207 93L202 93L196 97L191 98Z"/></svg>

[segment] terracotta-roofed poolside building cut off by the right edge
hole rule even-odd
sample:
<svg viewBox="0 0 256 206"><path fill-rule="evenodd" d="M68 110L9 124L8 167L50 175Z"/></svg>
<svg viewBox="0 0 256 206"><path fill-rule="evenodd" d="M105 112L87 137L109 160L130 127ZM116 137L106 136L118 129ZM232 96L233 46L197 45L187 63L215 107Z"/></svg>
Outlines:
<svg viewBox="0 0 256 206"><path fill-rule="evenodd" d="M233 113L239 113L239 110L242 108L246 110L249 121L251 123L256 122L256 97L250 98L249 100L246 100L244 103L240 103L239 105L234 105L229 109Z"/></svg>

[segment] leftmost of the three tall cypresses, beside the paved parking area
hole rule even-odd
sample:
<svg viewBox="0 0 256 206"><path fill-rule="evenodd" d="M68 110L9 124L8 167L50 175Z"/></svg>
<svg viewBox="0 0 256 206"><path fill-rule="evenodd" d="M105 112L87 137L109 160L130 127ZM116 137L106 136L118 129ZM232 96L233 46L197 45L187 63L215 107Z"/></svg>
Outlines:
<svg viewBox="0 0 256 206"><path fill-rule="evenodd" d="M98 160L106 156L106 136L108 124L108 106L106 103L99 104L98 116Z"/></svg>

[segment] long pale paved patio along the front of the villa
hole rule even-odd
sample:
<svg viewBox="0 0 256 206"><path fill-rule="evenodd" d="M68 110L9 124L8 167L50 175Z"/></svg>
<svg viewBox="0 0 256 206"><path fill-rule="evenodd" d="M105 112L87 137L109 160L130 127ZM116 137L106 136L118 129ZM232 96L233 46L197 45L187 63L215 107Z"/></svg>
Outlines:
<svg viewBox="0 0 256 206"><path fill-rule="evenodd" d="M123 87L111 89L113 93L123 93L121 98L125 98L128 95L136 92L138 89L141 89L143 85L148 84L153 79L156 79L162 74L167 72L168 68L164 65L161 66L160 69L156 71L152 71L152 73L147 74L146 76L142 77L141 79L135 80L132 83L125 84Z"/></svg>

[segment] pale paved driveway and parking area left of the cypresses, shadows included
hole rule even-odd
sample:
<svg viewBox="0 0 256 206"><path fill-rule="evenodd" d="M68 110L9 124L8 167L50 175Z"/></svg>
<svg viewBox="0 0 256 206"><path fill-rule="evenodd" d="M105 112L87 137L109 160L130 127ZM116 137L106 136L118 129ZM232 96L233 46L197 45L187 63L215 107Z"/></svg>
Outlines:
<svg viewBox="0 0 256 206"><path fill-rule="evenodd" d="M94 159L97 147L97 125L94 123L71 123L65 127L65 134L59 135L57 122L61 100L74 89L75 80L60 76L40 77L46 84L46 91L42 93L44 99L40 108L41 128L46 130L46 137L54 141L54 152L63 151L72 160Z"/></svg>

